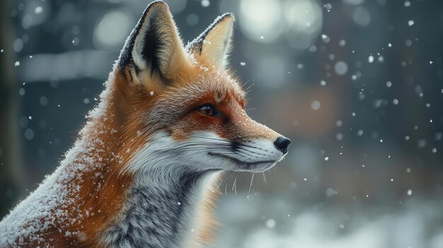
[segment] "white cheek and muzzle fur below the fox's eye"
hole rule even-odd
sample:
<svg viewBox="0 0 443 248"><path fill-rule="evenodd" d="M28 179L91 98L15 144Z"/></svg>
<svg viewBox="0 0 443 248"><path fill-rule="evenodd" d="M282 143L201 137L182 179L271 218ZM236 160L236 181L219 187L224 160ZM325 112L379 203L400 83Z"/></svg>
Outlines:
<svg viewBox="0 0 443 248"><path fill-rule="evenodd" d="M237 152L217 147L229 146L229 143L230 141L212 132L196 132L185 141L174 141L166 132L160 132L139 150L123 171L129 170L137 175L149 175L153 171L163 175L180 174L183 170L243 171L246 169L238 167L238 163L256 163L257 167L251 165L246 171L258 172L269 169L284 158L284 154L275 148L274 141L265 138L240 142L245 147ZM238 160L238 163L232 163L229 158ZM163 175L159 175L158 178L163 178ZM146 180L146 183L158 183L152 182L155 178L149 177Z"/></svg>

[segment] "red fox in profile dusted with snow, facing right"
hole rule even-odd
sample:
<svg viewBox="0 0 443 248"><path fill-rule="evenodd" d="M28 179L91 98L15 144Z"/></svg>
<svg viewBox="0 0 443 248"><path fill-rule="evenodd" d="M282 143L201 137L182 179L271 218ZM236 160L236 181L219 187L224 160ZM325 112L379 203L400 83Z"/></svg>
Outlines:
<svg viewBox="0 0 443 248"><path fill-rule="evenodd" d="M57 169L0 223L0 247L203 247L226 171L263 172L289 138L246 114L234 14L183 45L154 1Z"/></svg>

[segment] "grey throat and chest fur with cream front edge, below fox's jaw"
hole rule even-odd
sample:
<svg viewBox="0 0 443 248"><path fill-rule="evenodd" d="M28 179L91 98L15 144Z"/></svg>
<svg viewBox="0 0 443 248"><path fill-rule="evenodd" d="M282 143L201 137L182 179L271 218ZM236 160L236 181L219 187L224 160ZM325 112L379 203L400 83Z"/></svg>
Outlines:
<svg viewBox="0 0 443 248"><path fill-rule="evenodd" d="M208 227L200 218L218 172L176 175L163 178L161 185L147 184L146 177L134 179L120 218L103 241L109 247L195 247L205 242L202 232Z"/></svg>

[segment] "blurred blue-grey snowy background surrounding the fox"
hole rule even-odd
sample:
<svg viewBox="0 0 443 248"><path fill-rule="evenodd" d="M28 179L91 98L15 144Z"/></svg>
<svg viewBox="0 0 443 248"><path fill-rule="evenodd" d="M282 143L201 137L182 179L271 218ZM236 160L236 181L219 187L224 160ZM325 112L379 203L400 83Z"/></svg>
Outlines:
<svg viewBox="0 0 443 248"><path fill-rule="evenodd" d="M248 113L292 139L227 173L214 247L443 247L443 1L170 0L236 15ZM0 217L57 167L149 1L0 1Z"/></svg>

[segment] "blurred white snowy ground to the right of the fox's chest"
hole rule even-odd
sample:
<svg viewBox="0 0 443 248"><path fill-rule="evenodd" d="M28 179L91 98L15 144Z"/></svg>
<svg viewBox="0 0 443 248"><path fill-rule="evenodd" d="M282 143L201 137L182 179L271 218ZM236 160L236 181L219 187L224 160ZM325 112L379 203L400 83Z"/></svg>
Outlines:
<svg viewBox="0 0 443 248"><path fill-rule="evenodd" d="M220 199L224 227L214 247L443 247L441 203L435 201L409 201L389 211L374 207L366 213L345 213L343 208L318 211L297 203L279 206L272 196L248 201L247 195ZM287 211L296 214L287 215Z"/></svg>

